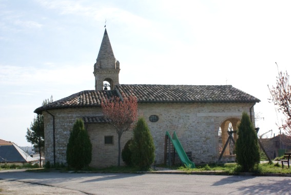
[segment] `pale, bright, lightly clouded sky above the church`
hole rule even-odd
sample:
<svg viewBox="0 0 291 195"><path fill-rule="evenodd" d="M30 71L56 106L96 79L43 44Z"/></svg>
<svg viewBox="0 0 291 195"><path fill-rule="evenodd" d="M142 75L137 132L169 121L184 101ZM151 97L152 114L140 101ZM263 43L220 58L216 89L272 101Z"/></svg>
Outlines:
<svg viewBox="0 0 291 195"><path fill-rule="evenodd" d="M261 100L259 134L279 130L268 98L291 73L291 1L0 0L0 139L25 135L43 100L94 89L104 26L121 84L232 85Z"/></svg>

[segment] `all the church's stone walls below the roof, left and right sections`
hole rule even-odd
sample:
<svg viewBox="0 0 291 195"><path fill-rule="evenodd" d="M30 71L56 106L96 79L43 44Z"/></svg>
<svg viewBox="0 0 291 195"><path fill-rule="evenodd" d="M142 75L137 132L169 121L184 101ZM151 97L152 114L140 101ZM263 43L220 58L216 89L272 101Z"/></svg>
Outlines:
<svg viewBox="0 0 291 195"><path fill-rule="evenodd" d="M157 164L164 162L165 132L176 131L186 152L192 152L193 162L214 163L218 160L218 130L227 119L241 119L243 111L249 114L252 104L140 104L139 114L143 115L153 136L156 146ZM66 163L66 146L70 130L77 118L102 115L101 108L70 108L50 110L55 116L56 162ZM254 110L252 110L254 116ZM53 163L53 127L52 116L43 112L45 120L46 161ZM150 115L158 115L158 122L150 122ZM254 121L254 120L253 120ZM118 135L110 124L88 124L87 130L93 145L93 167L117 165ZM104 136L113 136L113 144L104 143ZM123 148L132 132L122 135ZM122 162L122 161L121 161Z"/></svg>

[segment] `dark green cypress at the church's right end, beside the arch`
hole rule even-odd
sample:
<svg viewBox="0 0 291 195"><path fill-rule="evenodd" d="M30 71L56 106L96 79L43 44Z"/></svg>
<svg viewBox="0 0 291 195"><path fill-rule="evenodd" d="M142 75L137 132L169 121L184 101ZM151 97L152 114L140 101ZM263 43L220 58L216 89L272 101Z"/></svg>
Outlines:
<svg viewBox="0 0 291 195"><path fill-rule="evenodd" d="M246 112L243 112L241 123L238 127L235 152L236 161L241 165L244 172L250 171L260 162L258 136Z"/></svg>

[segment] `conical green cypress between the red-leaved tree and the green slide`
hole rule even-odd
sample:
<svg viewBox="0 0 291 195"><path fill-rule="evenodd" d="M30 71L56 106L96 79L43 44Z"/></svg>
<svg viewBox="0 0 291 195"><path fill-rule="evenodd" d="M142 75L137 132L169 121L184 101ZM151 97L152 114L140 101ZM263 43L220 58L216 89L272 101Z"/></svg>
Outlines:
<svg viewBox="0 0 291 195"><path fill-rule="evenodd" d="M133 129L133 141L130 145L131 161L141 170L147 170L154 162L154 143L144 118L139 118Z"/></svg>

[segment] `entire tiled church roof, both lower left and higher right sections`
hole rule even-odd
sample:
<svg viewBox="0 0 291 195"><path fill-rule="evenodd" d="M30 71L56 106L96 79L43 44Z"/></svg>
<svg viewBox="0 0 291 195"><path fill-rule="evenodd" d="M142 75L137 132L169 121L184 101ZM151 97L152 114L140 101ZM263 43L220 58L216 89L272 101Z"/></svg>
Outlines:
<svg viewBox="0 0 291 195"><path fill-rule="evenodd" d="M117 85L115 90L86 90L34 110L100 107L113 96L134 95L139 103L258 103L259 99L231 85Z"/></svg>

